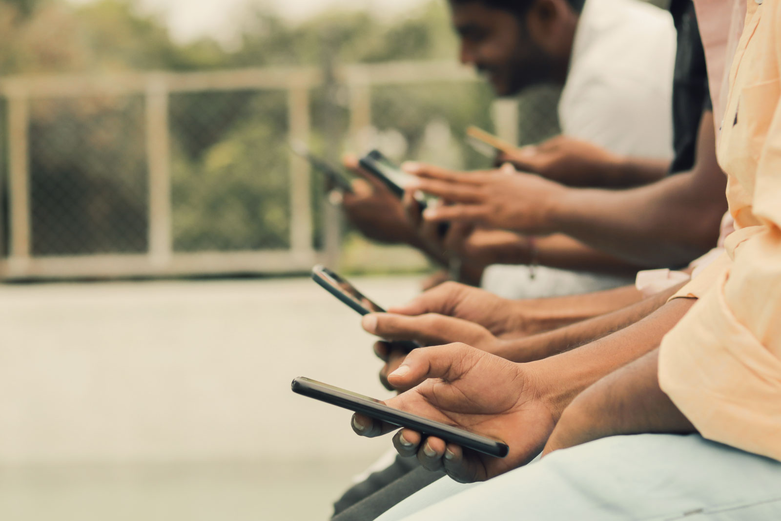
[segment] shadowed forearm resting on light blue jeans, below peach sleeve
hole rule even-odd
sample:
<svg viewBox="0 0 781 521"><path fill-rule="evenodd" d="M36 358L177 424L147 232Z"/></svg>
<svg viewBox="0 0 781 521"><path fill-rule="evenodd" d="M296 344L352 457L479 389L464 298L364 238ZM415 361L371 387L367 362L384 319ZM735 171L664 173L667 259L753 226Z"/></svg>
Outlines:
<svg viewBox="0 0 781 521"><path fill-rule="evenodd" d="M696 432L659 387L658 348L604 376L564 410L545 453L609 436Z"/></svg>

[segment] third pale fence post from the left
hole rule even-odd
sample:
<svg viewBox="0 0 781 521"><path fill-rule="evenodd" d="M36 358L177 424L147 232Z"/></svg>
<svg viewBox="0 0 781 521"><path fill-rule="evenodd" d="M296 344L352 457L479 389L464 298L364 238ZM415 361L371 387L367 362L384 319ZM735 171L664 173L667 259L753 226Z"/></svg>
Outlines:
<svg viewBox="0 0 781 521"><path fill-rule="evenodd" d="M294 81L287 91L288 127L292 139L309 141L309 88ZM312 194L309 163L291 152L291 251L312 254Z"/></svg>

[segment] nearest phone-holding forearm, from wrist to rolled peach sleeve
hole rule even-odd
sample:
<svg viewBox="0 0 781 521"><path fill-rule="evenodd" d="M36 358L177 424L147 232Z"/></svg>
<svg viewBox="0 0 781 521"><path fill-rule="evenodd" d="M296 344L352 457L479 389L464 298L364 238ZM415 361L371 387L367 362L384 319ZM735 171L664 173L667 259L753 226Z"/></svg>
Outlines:
<svg viewBox="0 0 781 521"><path fill-rule="evenodd" d="M578 394L616 369L653 351L694 305L678 298L629 327L580 348L530 362L546 378L545 390L552 408L562 412Z"/></svg>

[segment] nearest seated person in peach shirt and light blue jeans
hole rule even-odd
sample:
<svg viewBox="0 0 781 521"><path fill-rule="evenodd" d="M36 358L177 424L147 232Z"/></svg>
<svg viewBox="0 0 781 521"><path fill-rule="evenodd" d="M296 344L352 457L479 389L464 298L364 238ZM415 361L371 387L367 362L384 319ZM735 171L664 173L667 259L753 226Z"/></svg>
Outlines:
<svg viewBox="0 0 781 521"><path fill-rule="evenodd" d="M723 263L637 323L547 359L516 364L463 344L412 351L388 376L412 388L388 405L511 452L483 458L401 430L400 454L457 482L488 481L437 481L380 519L779 519L781 7L748 2L746 20L726 105L734 123L719 143L736 222ZM359 415L352 424L393 430Z"/></svg>

